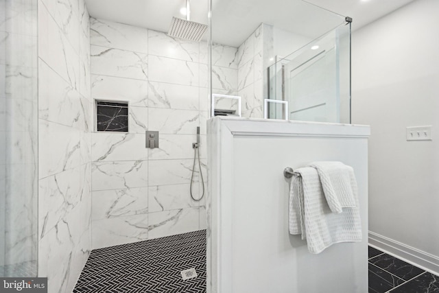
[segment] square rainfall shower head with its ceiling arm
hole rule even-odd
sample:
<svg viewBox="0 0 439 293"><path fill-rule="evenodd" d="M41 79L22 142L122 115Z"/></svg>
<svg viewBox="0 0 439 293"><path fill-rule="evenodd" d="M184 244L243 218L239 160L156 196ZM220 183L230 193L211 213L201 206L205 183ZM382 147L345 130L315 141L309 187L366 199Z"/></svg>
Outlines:
<svg viewBox="0 0 439 293"><path fill-rule="evenodd" d="M169 32L167 32L168 36L200 42L204 32L207 30L207 25L190 21L190 13L189 0L186 0L186 20L172 17L171 27L169 27Z"/></svg>

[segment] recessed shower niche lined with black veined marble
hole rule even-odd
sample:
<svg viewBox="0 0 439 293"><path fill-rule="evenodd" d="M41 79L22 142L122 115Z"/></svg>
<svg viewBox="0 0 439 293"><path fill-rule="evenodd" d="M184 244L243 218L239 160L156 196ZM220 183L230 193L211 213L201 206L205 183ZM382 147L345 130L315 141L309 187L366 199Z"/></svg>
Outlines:
<svg viewBox="0 0 439 293"><path fill-rule="evenodd" d="M128 102L95 100L96 130L128 132Z"/></svg>

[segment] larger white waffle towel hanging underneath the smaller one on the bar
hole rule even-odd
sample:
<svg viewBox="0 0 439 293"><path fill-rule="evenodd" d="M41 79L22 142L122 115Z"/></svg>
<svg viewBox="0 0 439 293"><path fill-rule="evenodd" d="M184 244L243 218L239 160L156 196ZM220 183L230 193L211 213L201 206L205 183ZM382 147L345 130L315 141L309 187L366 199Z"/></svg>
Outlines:
<svg viewBox="0 0 439 293"><path fill-rule="evenodd" d="M289 192L289 233L302 234L310 253L321 253L339 242L361 241L361 220L356 207L332 213L324 198L318 172L313 167L296 169Z"/></svg>

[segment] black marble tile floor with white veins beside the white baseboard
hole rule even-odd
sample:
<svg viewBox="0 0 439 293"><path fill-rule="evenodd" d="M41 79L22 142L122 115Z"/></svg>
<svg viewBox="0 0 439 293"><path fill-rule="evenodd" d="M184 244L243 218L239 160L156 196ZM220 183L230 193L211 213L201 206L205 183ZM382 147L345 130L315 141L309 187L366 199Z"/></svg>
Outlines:
<svg viewBox="0 0 439 293"><path fill-rule="evenodd" d="M439 277L369 246L369 293L439 293Z"/></svg>

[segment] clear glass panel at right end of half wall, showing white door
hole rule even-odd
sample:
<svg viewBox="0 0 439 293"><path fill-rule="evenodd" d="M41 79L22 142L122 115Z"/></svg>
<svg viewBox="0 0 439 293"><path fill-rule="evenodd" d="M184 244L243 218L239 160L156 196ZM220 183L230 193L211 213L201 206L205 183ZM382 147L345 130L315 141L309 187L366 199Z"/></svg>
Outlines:
<svg viewBox="0 0 439 293"><path fill-rule="evenodd" d="M289 119L351 123L351 23L276 60L269 72L270 95L289 102Z"/></svg>

